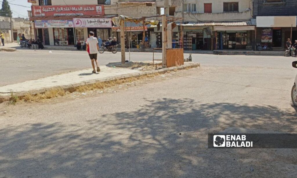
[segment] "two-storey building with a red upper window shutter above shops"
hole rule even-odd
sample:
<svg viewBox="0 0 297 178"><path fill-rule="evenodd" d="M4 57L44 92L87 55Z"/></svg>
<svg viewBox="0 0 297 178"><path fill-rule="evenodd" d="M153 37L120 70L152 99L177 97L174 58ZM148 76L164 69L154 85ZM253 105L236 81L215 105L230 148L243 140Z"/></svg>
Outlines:
<svg viewBox="0 0 297 178"><path fill-rule="evenodd" d="M252 50L252 11L252 0L186 0L174 17L184 17L185 50Z"/></svg>

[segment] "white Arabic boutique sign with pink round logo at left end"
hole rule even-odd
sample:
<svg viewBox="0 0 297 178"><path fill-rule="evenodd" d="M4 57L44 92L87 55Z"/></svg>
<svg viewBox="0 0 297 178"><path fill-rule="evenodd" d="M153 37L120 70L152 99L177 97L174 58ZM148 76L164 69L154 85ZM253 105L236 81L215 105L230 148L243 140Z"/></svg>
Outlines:
<svg viewBox="0 0 297 178"><path fill-rule="evenodd" d="M110 28L110 18L74 18L74 27Z"/></svg>

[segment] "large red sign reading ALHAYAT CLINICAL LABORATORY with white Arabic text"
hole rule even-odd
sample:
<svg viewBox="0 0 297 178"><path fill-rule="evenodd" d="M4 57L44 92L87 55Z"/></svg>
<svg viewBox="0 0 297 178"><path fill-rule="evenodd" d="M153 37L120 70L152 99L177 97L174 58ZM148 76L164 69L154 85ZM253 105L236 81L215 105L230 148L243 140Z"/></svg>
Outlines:
<svg viewBox="0 0 297 178"><path fill-rule="evenodd" d="M32 6L33 16L104 15L103 5Z"/></svg>

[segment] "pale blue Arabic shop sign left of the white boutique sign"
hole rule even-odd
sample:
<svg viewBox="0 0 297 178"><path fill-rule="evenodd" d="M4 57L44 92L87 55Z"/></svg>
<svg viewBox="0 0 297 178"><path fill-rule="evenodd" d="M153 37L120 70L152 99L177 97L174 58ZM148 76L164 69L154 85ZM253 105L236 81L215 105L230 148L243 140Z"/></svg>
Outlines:
<svg viewBox="0 0 297 178"><path fill-rule="evenodd" d="M36 28L73 28L72 20L35 20Z"/></svg>

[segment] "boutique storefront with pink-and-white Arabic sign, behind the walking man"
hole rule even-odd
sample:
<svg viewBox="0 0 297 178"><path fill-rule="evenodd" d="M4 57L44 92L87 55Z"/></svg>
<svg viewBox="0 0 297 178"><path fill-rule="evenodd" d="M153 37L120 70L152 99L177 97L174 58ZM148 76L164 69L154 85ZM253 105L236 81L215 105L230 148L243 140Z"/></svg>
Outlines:
<svg viewBox="0 0 297 178"><path fill-rule="evenodd" d="M107 41L109 37L113 36L111 33L112 22L110 18L74 18L74 27L76 34L79 35L78 39L82 39L85 35L83 28L86 32L94 32L94 36L102 39L103 42Z"/></svg>

